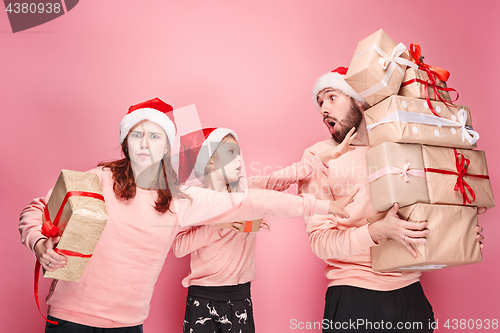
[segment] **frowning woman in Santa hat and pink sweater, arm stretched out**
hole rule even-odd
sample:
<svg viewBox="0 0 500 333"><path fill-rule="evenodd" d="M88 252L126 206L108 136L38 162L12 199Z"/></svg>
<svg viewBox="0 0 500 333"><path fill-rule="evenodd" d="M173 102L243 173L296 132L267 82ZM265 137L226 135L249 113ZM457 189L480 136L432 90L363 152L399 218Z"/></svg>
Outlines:
<svg viewBox="0 0 500 333"><path fill-rule="evenodd" d="M339 211L311 196L181 189L170 163L172 110L158 98L130 107L120 123L125 157L89 171L99 176L108 222L80 282L53 282L46 332L142 332L154 285L181 226ZM23 210L19 230L43 269L54 271L67 261L54 251L59 239L42 232L50 193ZM213 214L200 213L208 209Z"/></svg>

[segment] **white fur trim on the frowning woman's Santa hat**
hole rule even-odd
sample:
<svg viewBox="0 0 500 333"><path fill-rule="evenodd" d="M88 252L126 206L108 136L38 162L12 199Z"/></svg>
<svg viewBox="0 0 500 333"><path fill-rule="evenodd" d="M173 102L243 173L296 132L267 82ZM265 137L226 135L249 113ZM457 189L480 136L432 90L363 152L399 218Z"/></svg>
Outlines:
<svg viewBox="0 0 500 333"><path fill-rule="evenodd" d="M120 144L123 143L130 129L143 120L149 120L160 125L167 134L170 146L174 144L174 123L165 113L151 108L137 109L123 117L120 123Z"/></svg>

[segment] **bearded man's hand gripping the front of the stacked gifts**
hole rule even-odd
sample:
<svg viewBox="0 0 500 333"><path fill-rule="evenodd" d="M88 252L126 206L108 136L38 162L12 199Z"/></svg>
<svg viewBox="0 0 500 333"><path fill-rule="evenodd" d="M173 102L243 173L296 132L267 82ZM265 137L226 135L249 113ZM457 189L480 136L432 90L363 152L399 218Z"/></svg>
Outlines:
<svg viewBox="0 0 500 333"><path fill-rule="evenodd" d="M424 244L427 241L425 239L429 234L429 230L425 229L427 222L401 220L397 214L398 209L399 204L395 203L382 220L368 225L368 231L375 243L381 239L390 238L403 244L414 257L417 257L417 252L411 244Z"/></svg>

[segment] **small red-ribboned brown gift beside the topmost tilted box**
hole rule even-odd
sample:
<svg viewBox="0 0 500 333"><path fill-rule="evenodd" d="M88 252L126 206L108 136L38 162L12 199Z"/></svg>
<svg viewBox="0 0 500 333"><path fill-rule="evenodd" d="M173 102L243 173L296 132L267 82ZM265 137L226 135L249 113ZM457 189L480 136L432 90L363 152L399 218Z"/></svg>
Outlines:
<svg viewBox="0 0 500 333"><path fill-rule="evenodd" d="M398 94L401 96L425 99L425 82L427 80L429 80L429 76L426 71L408 68L405 72L405 76L403 77L401 89L399 89ZM448 88L446 86L446 82L441 81L437 77L435 82L436 90L434 90L431 83L427 85L427 95L429 96L429 99L438 101L439 97L436 96L437 92L443 100L451 102L450 93L446 90L439 89Z"/></svg>

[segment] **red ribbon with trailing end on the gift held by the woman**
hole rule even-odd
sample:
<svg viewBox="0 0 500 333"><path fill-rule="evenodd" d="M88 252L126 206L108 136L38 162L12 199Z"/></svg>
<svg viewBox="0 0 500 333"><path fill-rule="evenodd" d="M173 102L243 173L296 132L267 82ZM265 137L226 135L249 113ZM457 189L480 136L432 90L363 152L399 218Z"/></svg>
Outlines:
<svg viewBox="0 0 500 333"><path fill-rule="evenodd" d="M83 192L83 191L69 191L66 193L66 196L64 197L63 202L61 203L61 207L59 207L59 210L57 211L57 215L54 218L54 223L50 221L50 214L49 214L49 209L47 206L45 206L45 209L43 211L43 215L45 217L45 223L42 225L42 235L44 235L47 238L52 238L56 237L59 228L57 227L57 224L59 223L59 219L61 218L64 206L66 205L66 202L68 199L72 196L79 196L79 197L90 197L90 198L95 198L104 201L104 197L100 194L97 193L92 193L92 192ZM73 251L68 251L68 250L60 250L56 247L54 247L54 251L60 255L67 255L67 256L72 256L72 257L81 257L81 258L90 258L92 257L91 254L82 254L78 252L73 252ZM36 301L36 306L38 307L38 311L42 315L43 318L45 318L46 321L48 321L51 324L57 325L57 321L52 321L48 320L40 310L40 303L38 302L38 283L40 280L40 262L37 260L35 264L35 301Z"/></svg>

